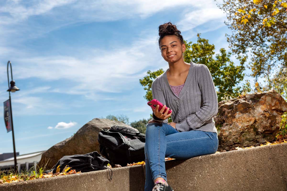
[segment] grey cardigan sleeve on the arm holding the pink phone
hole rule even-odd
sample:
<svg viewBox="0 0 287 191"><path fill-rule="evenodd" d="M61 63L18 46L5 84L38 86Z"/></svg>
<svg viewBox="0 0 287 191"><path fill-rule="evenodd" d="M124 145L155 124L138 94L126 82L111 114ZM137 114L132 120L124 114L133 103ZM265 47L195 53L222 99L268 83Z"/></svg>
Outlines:
<svg viewBox="0 0 287 191"><path fill-rule="evenodd" d="M162 88L160 87L159 81L158 79L155 79L152 82L152 99L157 99L158 101L160 101L163 105L166 105L166 101L164 99L164 95L162 92ZM158 121L160 123L168 123L168 119L162 120L159 119L158 117L156 117L154 115L154 113L152 113L152 117L155 121Z"/></svg>

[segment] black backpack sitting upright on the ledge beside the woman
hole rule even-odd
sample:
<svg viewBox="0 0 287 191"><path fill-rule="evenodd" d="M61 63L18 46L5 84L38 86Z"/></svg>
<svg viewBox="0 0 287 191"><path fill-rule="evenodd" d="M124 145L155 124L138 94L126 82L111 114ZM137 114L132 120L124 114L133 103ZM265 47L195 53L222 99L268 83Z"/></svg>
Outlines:
<svg viewBox="0 0 287 191"><path fill-rule="evenodd" d="M146 135L129 127L112 126L109 130L103 129L98 135L100 153L104 155L111 166L145 160L144 145Z"/></svg>

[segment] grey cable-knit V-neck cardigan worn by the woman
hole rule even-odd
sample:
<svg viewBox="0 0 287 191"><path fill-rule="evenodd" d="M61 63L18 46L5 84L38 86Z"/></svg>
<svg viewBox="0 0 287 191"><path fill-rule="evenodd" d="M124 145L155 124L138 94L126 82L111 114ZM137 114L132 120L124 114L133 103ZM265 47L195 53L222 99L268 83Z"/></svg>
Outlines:
<svg viewBox="0 0 287 191"><path fill-rule="evenodd" d="M152 98L172 109L175 128L179 132L200 130L217 133L213 117L218 113L218 101L208 67L190 62L185 84L178 96L169 86L166 71L152 82ZM153 118L168 123L167 119L161 120L154 113Z"/></svg>

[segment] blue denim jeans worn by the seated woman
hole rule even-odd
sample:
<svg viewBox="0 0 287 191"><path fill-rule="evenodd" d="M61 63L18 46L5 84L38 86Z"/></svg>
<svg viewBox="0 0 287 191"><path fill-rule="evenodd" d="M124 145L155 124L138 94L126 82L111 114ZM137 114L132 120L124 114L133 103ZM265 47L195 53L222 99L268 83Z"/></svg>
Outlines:
<svg viewBox="0 0 287 191"><path fill-rule="evenodd" d="M145 191L152 190L158 177L167 181L165 157L183 160L213 154L218 149L218 137L214 132L179 132L167 123L148 123L146 127Z"/></svg>

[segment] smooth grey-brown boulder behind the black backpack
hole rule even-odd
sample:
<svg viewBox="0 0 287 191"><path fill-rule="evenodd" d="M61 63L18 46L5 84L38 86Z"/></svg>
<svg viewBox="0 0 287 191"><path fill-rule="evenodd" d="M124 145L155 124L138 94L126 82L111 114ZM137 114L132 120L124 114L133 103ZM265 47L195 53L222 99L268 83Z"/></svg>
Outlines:
<svg viewBox="0 0 287 191"><path fill-rule="evenodd" d="M46 169L51 169L57 164L59 159L66 155L86 154L93 151L100 153L98 134L102 129L110 129L113 125L130 127L125 123L112 121L110 119L92 119L92 121L89 121L81 127L73 137L69 137L57 143L44 152L38 165L44 166L49 160Z"/></svg>

